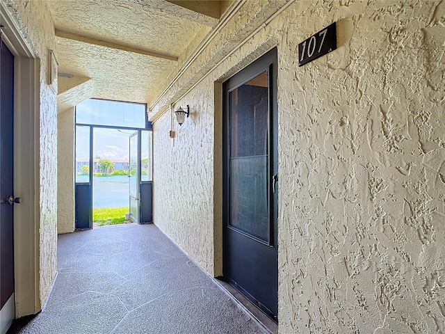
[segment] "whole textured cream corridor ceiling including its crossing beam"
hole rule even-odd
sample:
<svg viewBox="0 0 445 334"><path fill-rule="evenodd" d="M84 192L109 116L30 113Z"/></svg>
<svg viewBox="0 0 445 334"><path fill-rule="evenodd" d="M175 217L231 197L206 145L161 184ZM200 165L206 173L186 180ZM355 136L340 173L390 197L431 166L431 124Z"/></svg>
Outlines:
<svg viewBox="0 0 445 334"><path fill-rule="evenodd" d="M51 0L59 74L89 77L93 97L149 103L218 24L227 1Z"/></svg>

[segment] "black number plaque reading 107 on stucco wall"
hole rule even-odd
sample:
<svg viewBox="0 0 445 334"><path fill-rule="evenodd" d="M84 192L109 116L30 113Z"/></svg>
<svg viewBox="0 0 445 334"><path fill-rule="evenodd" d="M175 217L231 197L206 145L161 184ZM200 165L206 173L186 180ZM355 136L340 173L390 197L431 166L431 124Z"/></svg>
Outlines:
<svg viewBox="0 0 445 334"><path fill-rule="evenodd" d="M334 49L337 49L336 22L298 45L298 66L310 63L316 58L329 54Z"/></svg>

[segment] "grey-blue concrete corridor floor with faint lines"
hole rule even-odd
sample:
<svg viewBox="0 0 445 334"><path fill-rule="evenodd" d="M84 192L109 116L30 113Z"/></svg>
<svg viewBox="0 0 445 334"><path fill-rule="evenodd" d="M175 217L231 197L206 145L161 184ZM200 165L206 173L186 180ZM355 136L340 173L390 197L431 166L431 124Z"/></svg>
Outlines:
<svg viewBox="0 0 445 334"><path fill-rule="evenodd" d="M58 237L58 276L8 333L269 333L156 225Z"/></svg>

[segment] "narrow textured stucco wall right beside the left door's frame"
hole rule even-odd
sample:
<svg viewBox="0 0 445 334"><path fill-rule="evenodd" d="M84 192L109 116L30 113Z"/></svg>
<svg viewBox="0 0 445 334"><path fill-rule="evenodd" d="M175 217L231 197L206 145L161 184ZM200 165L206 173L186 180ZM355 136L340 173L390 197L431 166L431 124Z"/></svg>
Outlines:
<svg viewBox="0 0 445 334"><path fill-rule="evenodd" d="M38 110L39 168L39 282L43 305L56 276L57 249L57 95L47 85L48 49L55 49L54 24L46 1L7 0L21 33L40 58L40 106Z"/></svg>

